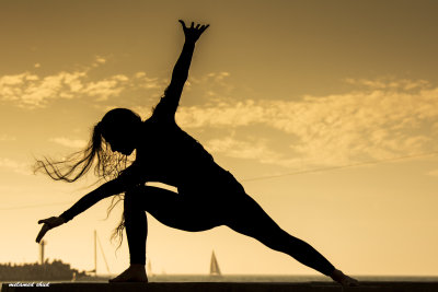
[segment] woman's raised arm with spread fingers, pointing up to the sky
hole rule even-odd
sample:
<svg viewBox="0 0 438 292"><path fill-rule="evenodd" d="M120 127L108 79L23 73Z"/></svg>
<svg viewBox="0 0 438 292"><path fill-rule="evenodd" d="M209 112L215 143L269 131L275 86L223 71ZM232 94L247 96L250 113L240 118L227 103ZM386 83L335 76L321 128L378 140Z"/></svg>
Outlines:
<svg viewBox="0 0 438 292"><path fill-rule="evenodd" d="M176 108L180 103L181 94L183 92L184 83L188 78L188 69L191 68L193 51L195 50L195 44L199 36L207 30L209 25L200 25L192 22L191 27L185 26L185 23L180 20L183 26L185 43L183 50L177 59L175 67L172 72L172 80L170 85L164 92L164 96L157 105L154 113L159 115L165 115L166 117L174 118Z"/></svg>

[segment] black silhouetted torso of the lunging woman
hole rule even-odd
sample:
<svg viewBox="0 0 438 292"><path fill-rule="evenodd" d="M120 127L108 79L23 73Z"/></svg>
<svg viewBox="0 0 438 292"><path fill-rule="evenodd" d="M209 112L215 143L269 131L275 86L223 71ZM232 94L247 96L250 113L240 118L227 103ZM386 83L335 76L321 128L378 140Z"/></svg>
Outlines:
<svg viewBox="0 0 438 292"><path fill-rule="evenodd" d="M175 122L150 118L143 122L142 137L136 163L141 165L149 182L169 184L180 190L232 177Z"/></svg>

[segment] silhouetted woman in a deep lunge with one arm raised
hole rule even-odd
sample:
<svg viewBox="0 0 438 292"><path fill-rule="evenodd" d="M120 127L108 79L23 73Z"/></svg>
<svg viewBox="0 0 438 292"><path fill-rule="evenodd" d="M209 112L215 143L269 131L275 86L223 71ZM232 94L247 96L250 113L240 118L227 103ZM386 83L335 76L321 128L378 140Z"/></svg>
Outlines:
<svg viewBox="0 0 438 292"><path fill-rule="evenodd" d="M74 182L95 162L95 172L114 179L89 192L59 217L39 220L44 223L36 241L60 224L70 221L103 198L125 192L124 219L118 234L126 227L130 266L110 281L148 281L145 271L148 224L145 211L161 223L185 231L205 231L220 225L251 236L267 247L283 252L344 284L357 281L345 276L306 242L280 229L265 211L245 194L235 178L175 122L175 112L188 75L195 43L208 25L192 23L186 27L183 51L172 73L172 81L150 118L141 118L129 109L115 108L105 114L93 129L84 154L73 165L49 160L38 161L54 179ZM111 151L108 147L111 147ZM136 150L136 160L118 172L120 157ZM114 153L123 155L115 157ZM114 159L115 157L115 159ZM68 161L67 161L68 162ZM67 168L62 168L67 167ZM177 187L177 194L146 182L161 182Z"/></svg>

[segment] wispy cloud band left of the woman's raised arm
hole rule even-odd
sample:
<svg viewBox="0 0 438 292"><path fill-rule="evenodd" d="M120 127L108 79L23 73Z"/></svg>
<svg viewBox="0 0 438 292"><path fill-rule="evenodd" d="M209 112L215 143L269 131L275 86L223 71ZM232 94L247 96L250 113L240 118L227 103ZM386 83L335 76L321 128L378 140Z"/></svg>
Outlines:
<svg viewBox="0 0 438 292"><path fill-rule="evenodd" d="M61 71L50 75L38 75L26 71L20 74L0 77L0 100L20 107L44 107L58 98L92 97L97 102L119 96L129 89L158 89L158 79L145 72L130 77L114 74L100 80L91 79L90 71L106 63L102 57L82 70Z"/></svg>

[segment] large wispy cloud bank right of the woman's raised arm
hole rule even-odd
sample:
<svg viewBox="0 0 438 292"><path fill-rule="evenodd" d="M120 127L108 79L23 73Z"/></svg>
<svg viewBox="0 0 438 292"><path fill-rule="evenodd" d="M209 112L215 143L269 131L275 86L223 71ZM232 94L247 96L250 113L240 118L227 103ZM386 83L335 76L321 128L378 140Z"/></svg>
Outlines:
<svg viewBox="0 0 438 292"><path fill-rule="evenodd" d="M338 165L436 150L438 87L422 80L348 82L360 86L345 94L309 95L300 101L246 100L182 107L177 120L195 129L265 126L284 137L295 137L290 153L281 153L277 162L272 153L264 160L278 164L296 164L297 155L300 163L304 160L312 165ZM229 155L234 156L242 148L227 137L222 139ZM242 152L241 157L247 155Z"/></svg>

